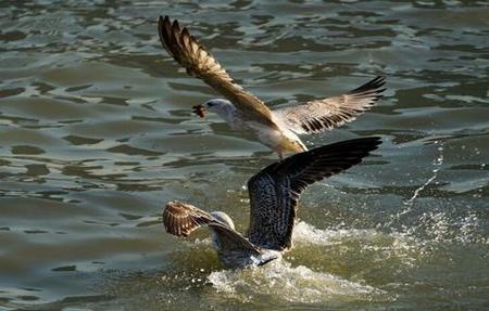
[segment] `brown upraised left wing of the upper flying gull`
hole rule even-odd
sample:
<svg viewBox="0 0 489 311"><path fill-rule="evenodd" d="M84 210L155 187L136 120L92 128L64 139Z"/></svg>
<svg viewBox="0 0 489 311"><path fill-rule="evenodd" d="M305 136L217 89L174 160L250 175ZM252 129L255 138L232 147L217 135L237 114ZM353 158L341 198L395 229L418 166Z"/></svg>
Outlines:
<svg viewBox="0 0 489 311"><path fill-rule="evenodd" d="M158 31L163 48L189 75L202 79L250 118L275 127L268 107L237 85L186 27L180 29L178 21L172 23L168 16L160 16Z"/></svg>

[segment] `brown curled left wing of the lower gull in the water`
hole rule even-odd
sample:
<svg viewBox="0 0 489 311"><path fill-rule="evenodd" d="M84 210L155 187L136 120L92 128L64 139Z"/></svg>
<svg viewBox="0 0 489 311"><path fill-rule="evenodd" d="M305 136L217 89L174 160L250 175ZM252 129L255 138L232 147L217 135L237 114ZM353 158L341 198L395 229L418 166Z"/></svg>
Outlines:
<svg viewBox="0 0 489 311"><path fill-rule="evenodd" d="M190 204L171 200L163 211L163 224L167 233L176 236L188 236L195 230L209 225L217 235L221 247L226 251L239 251L249 255L260 255L239 232L226 226L214 217Z"/></svg>

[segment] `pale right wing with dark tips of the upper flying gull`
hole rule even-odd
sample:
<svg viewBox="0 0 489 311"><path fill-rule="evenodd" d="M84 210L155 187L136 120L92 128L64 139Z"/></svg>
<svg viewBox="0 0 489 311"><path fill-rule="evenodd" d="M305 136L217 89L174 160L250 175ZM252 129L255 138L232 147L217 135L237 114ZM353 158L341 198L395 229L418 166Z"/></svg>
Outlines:
<svg viewBox="0 0 489 311"><path fill-rule="evenodd" d="M385 83L384 77L376 77L342 95L278 108L273 114L299 134L319 133L350 122L371 108L383 96Z"/></svg>

